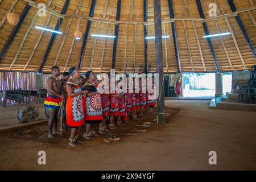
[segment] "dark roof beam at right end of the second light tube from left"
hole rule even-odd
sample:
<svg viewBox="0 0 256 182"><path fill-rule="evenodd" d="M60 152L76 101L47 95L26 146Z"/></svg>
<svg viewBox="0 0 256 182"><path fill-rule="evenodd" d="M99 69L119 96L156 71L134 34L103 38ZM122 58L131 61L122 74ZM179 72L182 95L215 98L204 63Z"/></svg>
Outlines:
<svg viewBox="0 0 256 182"><path fill-rule="evenodd" d="M121 0L117 1L117 13L115 16L115 20L120 19L120 11L121 11ZM115 38L113 43L113 52L112 52L112 69L115 69L115 56L117 55L117 40L118 40L118 24L115 25Z"/></svg>

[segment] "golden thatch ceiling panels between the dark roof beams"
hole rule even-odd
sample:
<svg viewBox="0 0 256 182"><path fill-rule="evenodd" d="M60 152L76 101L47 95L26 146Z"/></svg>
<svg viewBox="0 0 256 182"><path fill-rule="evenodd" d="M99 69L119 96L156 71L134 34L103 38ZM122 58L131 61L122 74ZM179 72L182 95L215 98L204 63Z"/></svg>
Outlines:
<svg viewBox="0 0 256 182"><path fill-rule="evenodd" d="M42 2L46 3L49 10L59 14L65 3L64 0L35 1L36 4ZM77 66L88 18L92 22L82 57L82 72L89 69L96 72L110 71L114 39L94 38L90 35L114 35L115 24L119 24L115 70L117 72L143 72L144 24L147 27L148 36L154 36L153 0L147 1L147 23L143 19L143 0L122 0L119 21L115 20L117 2L117 0L97 0L93 17L90 18L92 0L70 0L64 14L65 18L60 24L60 31L63 34L56 35L49 48L42 72L49 72L54 64L58 65L61 71ZM213 2L218 5L219 9L215 19L210 18L208 13L210 9L208 6ZM235 13L232 12L226 0L201 0L204 21L207 22L209 33L229 31L233 34L222 38L211 38L220 71L245 70L255 64L255 55L235 16L238 13L252 46L256 47L256 1L233 0L233 2L237 9ZM6 20L8 11L12 9L12 3L13 0L0 0L0 49L5 46L15 27ZM14 12L22 14L26 4L27 1L14 0ZM170 35L170 38L163 39L164 72L175 73L177 72L177 60L171 27L173 21L170 19L168 1L161 0L161 6L163 35ZM196 0L172 0L172 6L175 18L172 20L175 20L181 72L215 72L216 61L214 62L207 39L203 38L205 35L203 19L197 9ZM38 30L35 25L54 29L59 17L50 13L46 13L46 17L40 17L37 11L38 9L32 6L28 10L13 41L0 60L0 71L38 71L52 33ZM77 27L83 34L81 40L75 40L73 36ZM154 39L148 40L147 45L148 72L155 72Z"/></svg>

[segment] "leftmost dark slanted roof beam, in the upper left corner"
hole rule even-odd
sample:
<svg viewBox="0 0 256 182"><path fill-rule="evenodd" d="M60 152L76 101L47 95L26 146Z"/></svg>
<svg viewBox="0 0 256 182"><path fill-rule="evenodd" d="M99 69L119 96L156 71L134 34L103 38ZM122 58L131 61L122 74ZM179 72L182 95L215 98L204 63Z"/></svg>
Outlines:
<svg viewBox="0 0 256 182"><path fill-rule="evenodd" d="M0 52L0 63L1 63L1 59L3 57L3 55L5 54L5 52L7 51L7 48L10 46L11 42L13 41L16 32L18 32L20 25L22 24L23 20L25 19L28 10L30 10L30 6L27 5L24 7L22 14L19 16L19 22L18 24L16 24L16 26L13 28L13 31L11 31L11 34L9 35L9 38L7 39L5 45L3 46L1 52Z"/></svg>

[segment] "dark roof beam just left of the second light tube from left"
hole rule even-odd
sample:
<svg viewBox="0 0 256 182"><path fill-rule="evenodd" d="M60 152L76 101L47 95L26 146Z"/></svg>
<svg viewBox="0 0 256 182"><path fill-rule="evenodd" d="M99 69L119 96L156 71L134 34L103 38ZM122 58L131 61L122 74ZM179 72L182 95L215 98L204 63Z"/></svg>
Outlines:
<svg viewBox="0 0 256 182"><path fill-rule="evenodd" d="M90 13L89 13L90 17L93 16L95 6L96 6L96 0L93 0L92 4L90 5ZM87 42L87 39L88 39L91 23L92 22L90 20L88 20L87 24L86 24L86 28L85 28L85 32L84 32L84 39L82 39L82 47L81 47L81 51L80 51L80 55L79 55L79 60L78 60L78 63L77 63L77 68L78 69L81 68L82 59L84 58L84 50L86 48L86 42Z"/></svg>

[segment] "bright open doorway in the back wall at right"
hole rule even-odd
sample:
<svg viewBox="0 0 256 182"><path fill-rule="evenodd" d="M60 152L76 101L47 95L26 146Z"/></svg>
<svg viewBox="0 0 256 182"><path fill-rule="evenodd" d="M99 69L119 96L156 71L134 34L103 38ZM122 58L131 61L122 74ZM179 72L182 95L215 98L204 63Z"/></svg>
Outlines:
<svg viewBox="0 0 256 182"><path fill-rule="evenodd" d="M215 73L184 73L183 97L214 97Z"/></svg>

